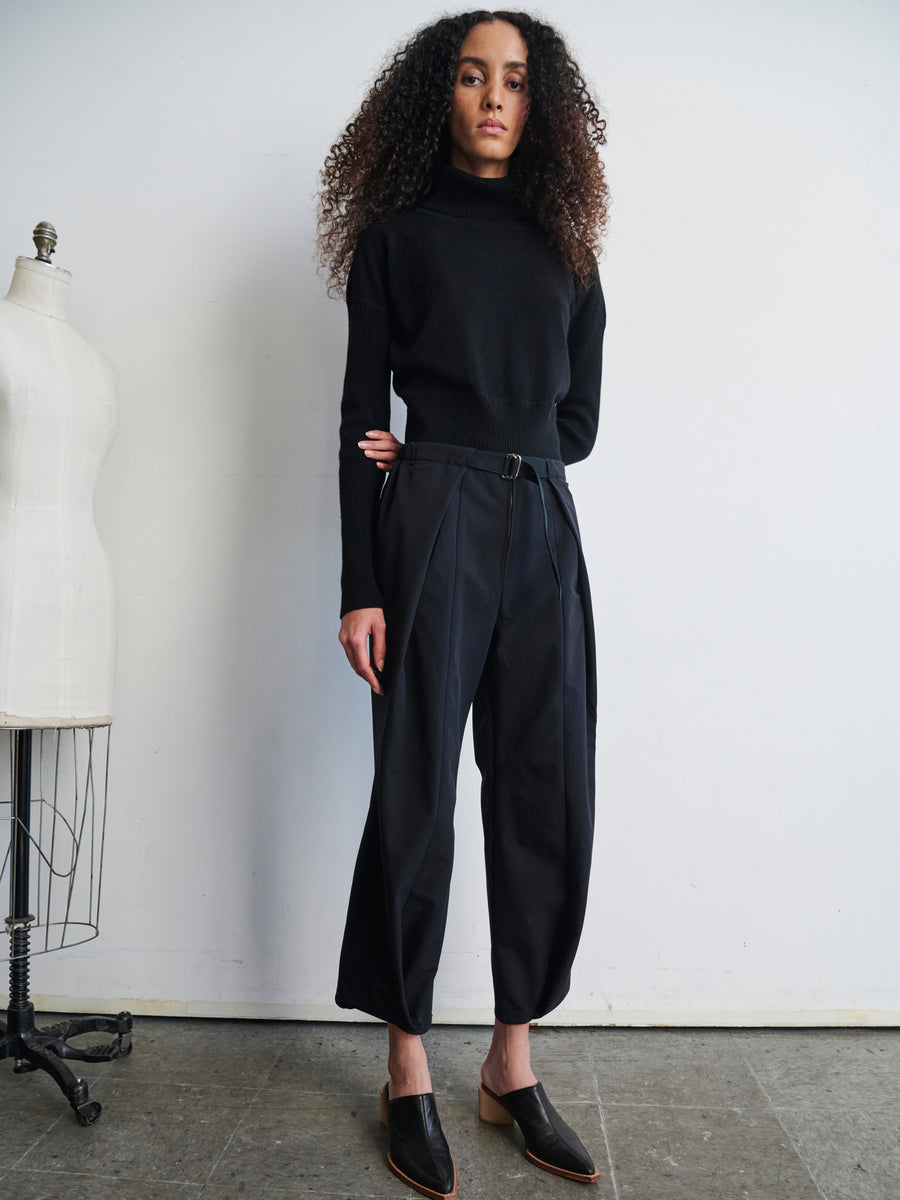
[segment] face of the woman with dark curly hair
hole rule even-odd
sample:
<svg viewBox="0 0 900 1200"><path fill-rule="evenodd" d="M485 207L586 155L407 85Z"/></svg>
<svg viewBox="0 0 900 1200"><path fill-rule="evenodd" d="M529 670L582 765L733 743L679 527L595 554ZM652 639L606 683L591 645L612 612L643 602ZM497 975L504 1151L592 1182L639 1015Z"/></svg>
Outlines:
<svg viewBox="0 0 900 1200"><path fill-rule="evenodd" d="M509 174L528 116L528 50L505 20L474 25L460 47L450 107L450 162L473 175Z"/></svg>

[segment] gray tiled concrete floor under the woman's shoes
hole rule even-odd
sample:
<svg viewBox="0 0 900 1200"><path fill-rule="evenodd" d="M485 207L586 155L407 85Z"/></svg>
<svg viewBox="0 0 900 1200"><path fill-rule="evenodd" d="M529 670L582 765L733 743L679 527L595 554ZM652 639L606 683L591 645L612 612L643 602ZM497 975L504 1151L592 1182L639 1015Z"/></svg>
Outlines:
<svg viewBox="0 0 900 1200"><path fill-rule="evenodd" d="M900 1200L900 1031L535 1030L593 1188L479 1122L488 1038L426 1038L460 1200ZM0 1062L0 1200L410 1196L384 1165L385 1051L373 1025L138 1018L131 1057L82 1072L103 1105L90 1128Z"/></svg>

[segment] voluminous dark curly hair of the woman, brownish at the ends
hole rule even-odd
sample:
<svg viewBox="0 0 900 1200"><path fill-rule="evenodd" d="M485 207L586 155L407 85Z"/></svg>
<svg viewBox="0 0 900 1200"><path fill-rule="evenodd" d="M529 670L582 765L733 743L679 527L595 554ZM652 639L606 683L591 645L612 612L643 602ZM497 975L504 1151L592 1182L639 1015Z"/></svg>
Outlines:
<svg viewBox="0 0 900 1200"><path fill-rule="evenodd" d="M528 49L528 120L510 160L522 204L583 282L606 227L608 191L598 146L606 121L565 42L523 12L466 12L420 29L388 61L356 116L329 150L319 196L319 258L329 292L343 293L356 239L412 208L449 161L448 116L460 47L474 25L505 20Z"/></svg>

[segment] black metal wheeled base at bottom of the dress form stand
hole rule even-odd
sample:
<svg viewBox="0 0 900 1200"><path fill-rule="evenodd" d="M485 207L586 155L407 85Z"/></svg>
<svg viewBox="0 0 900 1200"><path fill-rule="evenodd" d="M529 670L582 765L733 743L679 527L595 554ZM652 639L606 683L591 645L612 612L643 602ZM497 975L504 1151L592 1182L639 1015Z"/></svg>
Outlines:
<svg viewBox="0 0 900 1200"><path fill-rule="evenodd" d="M76 1016L46 1030L35 1026L35 1006L8 1008L6 1021L0 1021L0 1058L14 1058L16 1074L46 1070L56 1080L82 1124L94 1124L102 1111L97 1100L88 1096L88 1085L78 1079L62 1061L109 1062L131 1054L131 1013L118 1016ZM79 1033L113 1033L112 1042L94 1046L71 1046L68 1038Z"/></svg>

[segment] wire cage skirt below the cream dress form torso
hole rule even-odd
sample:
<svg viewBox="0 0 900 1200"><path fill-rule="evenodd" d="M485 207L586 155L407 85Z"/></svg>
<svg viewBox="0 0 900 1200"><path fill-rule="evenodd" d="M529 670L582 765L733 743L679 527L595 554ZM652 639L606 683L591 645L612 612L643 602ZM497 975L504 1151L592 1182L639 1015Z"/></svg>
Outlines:
<svg viewBox="0 0 900 1200"><path fill-rule="evenodd" d="M26 829L17 820L13 804L14 731L7 731L8 737L0 739L0 757L8 760L10 778L8 792L0 798L0 821L8 828L0 888L8 878L10 895L14 894L12 847L17 836L24 835L30 850L28 928L31 931L26 954L13 952L11 937L8 953L0 961L82 946L100 935L110 731L109 725L34 731Z"/></svg>

